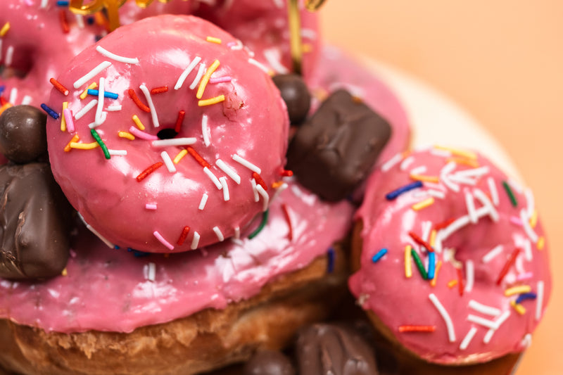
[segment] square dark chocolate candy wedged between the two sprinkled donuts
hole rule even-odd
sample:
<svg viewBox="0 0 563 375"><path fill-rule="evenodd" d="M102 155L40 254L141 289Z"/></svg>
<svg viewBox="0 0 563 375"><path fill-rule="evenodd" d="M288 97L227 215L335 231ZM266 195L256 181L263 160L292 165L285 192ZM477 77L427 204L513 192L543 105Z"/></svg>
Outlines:
<svg viewBox="0 0 563 375"><path fill-rule="evenodd" d="M296 132L287 169L321 198L340 201L367 177L390 136L383 117L339 90Z"/></svg>

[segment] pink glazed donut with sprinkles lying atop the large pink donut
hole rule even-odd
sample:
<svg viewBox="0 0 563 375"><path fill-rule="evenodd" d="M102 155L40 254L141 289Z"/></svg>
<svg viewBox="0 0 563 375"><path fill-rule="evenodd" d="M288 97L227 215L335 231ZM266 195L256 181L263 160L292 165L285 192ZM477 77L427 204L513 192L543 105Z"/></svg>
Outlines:
<svg viewBox="0 0 563 375"><path fill-rule="evenodd" d="M53 175L102 238L185 251L236 236L267 210L289 119L236 45L205 20L162 15L120 27L58 77L70 94L53 89L48 102L66 113L47 123ZM82 100L91 82L99 93Z"/></svg>

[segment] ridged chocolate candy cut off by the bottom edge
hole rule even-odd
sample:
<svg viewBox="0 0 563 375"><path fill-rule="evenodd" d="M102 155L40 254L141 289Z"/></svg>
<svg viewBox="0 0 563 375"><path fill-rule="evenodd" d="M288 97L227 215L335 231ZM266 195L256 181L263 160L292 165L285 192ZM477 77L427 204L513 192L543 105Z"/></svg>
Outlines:
<svg viewBox="0 0 563 375"><path fill-rule="evenodd" d="M334 324L313 324L298 333L299 374L377 375L374 351L355 331Z"/></svg>

